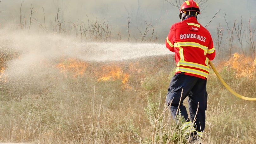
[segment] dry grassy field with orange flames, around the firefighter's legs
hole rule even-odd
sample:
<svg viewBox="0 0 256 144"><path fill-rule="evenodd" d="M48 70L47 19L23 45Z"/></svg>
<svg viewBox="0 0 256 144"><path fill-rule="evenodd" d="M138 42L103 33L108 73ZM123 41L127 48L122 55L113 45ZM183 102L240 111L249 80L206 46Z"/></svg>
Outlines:
<svg viewBox="0 0 256 144"><path fill-rule="evenodd" d="M234 56L220 74L239 93L254 96L255 60ZM52 71L41 75L40 83L49 82L48 87L28 85L27 91L13 89L13 81L2 77L0 141L184 143L164 102L173 62L170 55L104 63L64 57L41 63ZM3 76L8 65L0 67ZM252 74L239 74L246 69ZM231 95L212 71L207 88L204 143L255 143L255 102Z"/></svg>

